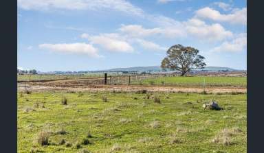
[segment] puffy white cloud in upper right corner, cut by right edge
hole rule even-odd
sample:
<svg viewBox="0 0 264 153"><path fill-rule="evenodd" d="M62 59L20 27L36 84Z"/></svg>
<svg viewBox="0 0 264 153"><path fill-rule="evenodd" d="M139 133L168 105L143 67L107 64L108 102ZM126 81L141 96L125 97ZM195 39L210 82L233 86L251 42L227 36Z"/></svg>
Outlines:
<svg viewBox="0 0 264 153"><path fill-rule="evenodd" d="M195 16L202 19L211 19L212 21L228 22L232 24L247 24L247 8L235 9L230 14L221 14L217 10L206 7L195 12Z"/></svg>

